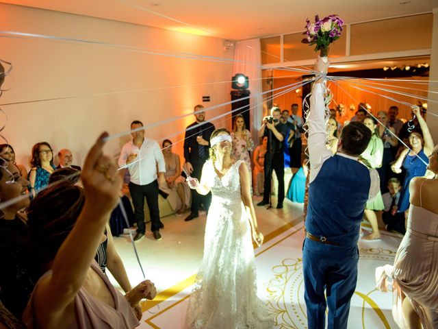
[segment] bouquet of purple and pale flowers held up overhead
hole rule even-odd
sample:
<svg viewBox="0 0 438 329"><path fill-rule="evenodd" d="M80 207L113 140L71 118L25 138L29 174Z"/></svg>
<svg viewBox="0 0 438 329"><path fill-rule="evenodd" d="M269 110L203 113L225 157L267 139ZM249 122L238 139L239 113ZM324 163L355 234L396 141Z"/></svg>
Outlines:
<svg viewBox="0 0 438 329"><path fill-rule="evenodd" d="M315 23L310 23L309 19L306 22L306 32L303 34L307 38L302 39L301 42L316 45L315 51L320 50L321 57L327 56L331 42L339 39L339 36L341 36L344 21L337 15L326 16L321 20L316 15Z"/></svg>

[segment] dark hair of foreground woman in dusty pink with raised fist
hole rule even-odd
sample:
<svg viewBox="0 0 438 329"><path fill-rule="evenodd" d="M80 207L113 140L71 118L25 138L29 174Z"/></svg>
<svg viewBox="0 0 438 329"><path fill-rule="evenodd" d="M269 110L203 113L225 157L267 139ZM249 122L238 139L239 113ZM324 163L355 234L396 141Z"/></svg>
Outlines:
<svg viewBox="0 0 438 329"><path fill-rule="evenodd" d="M27 208L27 225L36 264L37 276L55 258L81 213L85 196L83 188L68 180L40 191ZM38 278L37 278L38 279Z"/></svg>

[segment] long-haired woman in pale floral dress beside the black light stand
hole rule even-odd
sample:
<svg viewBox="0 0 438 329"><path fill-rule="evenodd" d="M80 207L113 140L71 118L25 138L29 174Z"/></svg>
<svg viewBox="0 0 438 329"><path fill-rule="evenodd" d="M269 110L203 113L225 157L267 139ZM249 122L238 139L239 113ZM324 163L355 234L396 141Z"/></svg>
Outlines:
<svg viewBox="0 0 438 329"><path fill-rule="evenodd" d="M253 151L254 142L250 136L249 130L245 127L245 121L242 114L237 114L234 117L233 132L233 156L235 160L243 160L251 173L251 157L250 151Z"/></svg>

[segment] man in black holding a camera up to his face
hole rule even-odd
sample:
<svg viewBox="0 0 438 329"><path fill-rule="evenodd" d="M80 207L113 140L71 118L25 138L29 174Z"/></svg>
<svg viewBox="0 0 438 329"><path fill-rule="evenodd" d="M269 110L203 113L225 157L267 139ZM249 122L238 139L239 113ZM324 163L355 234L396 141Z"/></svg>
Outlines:
<svg viewBox="0 0 438 329"><path fill-rule="evenodd" d="M263 118L263 124L259 130L259 137L268 136L268 149L265 154L263 199L257 206L270 205L272 170L274 170L276 178L279 180L277 209L283 208L283 199L285 198L283 141L287 134L287 127L280 122L280 117L281 110L272 108L271 115Z"/></svg>

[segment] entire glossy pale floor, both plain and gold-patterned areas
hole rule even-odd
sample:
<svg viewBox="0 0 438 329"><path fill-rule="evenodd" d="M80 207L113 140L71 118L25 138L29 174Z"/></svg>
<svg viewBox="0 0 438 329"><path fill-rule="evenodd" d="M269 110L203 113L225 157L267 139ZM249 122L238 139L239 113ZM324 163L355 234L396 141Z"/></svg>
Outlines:
<svg viewBox="0 0 438 329"><path fill-rule="evenodd" d="M275 328L307 328L301 271L302 205L286 201L282 210L256 207L256 213L265 235L265 242L255 250L259 297L275 315ZM136 243L146 278L155 282L158 291L154 301L143 304L140 328L182 328L187 297L203 256L205 215L190 222L183 219L162 219L162 241L153 240L149 232ZM127 237L116 238L115 243L135 285L143 278L131 243ZM391 293L374 290L374 269L394 261L398 243L400 237L385 232L380 242L359 243L360 274L349 328L397 328L391 318ZM283 282L276 280L278 271L283 273Z"/></svg>

